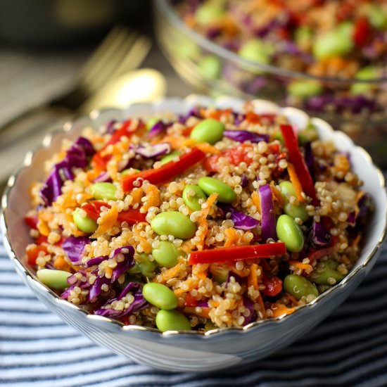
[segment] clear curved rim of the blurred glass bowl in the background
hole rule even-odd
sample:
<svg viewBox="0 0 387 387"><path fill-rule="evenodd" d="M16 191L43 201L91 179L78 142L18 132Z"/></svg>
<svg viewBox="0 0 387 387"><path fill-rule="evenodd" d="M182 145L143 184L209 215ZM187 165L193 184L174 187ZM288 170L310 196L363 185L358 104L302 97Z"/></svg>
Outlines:
<svg viewBox="0 0 387 387"><path fill-rule="evenodd" d="M346 78L334 78L334 77L317 77L315 75L307 74L306 72L286 70L284 68L274 66L274 65L267 65L265 63L249 61L248 59L243 58L237 53L234 53L233 51L230 51L228 49L224 49L224 47L220 46L219 44L211 42L210 39L203 37L203 35L187 27L186 24L177 16L177 13L175 13L173 8L170 6L169 0L154 0L153 3L156 4L158 10L163 12L166 18L170 20L170 22L173 25L175 25L175 27L179 28L180 31L184 32L188 37L194 40L194 42L198 43L203 48L208 49L208 51L212 51L216 53L218 56L221 56L222 58L227 59L228 61L242 64L246 68L248 68L248 66L250 68L255 67L257 70L264 70L266 72L270 72L276 75L281 75L284 77L294 77L294 78L301 78L301 79L307 79L307 80L315 80L320 82L337 82L337 83L343 83L343 84L347 84L347 83L376 84L379 82L383 82L383 83L387 82L387 77L372 78L368 80L360 80L358 78L346 79Z"/></svg>

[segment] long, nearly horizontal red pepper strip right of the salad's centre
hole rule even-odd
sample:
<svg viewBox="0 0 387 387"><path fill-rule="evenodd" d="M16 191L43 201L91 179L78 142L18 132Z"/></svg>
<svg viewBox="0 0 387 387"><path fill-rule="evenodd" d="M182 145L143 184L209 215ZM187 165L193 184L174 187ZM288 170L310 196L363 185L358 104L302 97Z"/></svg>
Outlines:
<svg viewBox="0 0 387 387"><path fill-rule="evenodd" d="M234 262L250 258L269 258L275 255L286 254L283 242L265 243L263 245L236 246L227 248L214 248L211 250L194 251L189 255L189 265L198 263Z"/></svg>

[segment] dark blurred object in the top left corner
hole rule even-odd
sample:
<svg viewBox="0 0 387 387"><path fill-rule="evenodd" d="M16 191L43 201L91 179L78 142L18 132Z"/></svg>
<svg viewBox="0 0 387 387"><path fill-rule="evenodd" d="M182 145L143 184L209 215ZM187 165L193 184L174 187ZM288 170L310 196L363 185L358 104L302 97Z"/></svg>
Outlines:
<svg viewBox="0 0 387 387"><path fill-rule="evenodd" d="M151 32L149 0L0 0L0 42L25 49L90 44L115 23Z"/></svg>

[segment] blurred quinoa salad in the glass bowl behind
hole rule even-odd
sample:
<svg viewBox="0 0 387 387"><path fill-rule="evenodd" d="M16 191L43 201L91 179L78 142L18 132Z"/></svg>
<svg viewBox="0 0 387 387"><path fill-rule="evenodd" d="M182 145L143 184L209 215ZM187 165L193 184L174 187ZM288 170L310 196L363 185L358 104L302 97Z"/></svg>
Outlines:
<svg viewBox="0 0 387 387"><path fill-rule="evenodd" d="M170 3L186 27L217 45L209 48L201 37L183 40L178 31L169 37L175 44L163 42L170 53L191 63L208 92L258 96L305 110L331 122L385 163L385 0ZM261 70L241 63L220 48L272 67Z"/></svg>

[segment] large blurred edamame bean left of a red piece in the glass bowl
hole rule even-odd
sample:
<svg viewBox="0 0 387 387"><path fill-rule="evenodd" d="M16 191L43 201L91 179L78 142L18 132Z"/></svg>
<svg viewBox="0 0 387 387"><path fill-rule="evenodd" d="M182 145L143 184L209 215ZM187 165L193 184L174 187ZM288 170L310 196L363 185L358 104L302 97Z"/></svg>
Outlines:
<svg viewBox="0 0 387 387"><path fill-rule="evenodd" d="M342 23L335 30L331 30L317 37L313 45L313 55L321 60L329 56L344 56L353 48L353 25Z"/></svg>

